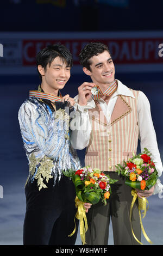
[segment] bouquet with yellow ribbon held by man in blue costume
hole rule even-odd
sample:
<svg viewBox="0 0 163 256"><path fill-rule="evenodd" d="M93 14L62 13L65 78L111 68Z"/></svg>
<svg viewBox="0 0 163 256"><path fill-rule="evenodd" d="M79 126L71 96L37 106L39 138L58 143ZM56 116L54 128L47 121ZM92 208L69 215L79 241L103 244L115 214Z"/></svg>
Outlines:
<svg viewBox="0 0 163 256"><path fill-rule="evenodd" d="M90 166L86 166L77 171L69 169L67 172L63 173L65 176L72 179L76 188L77 197L75 202L78 207L76 218L80 220L80 237L84 245L85 233L87 231L87 220L83 204L97 204L101 200L104 205L106 205L106 199L108 199L111 194L110 184L114 184L117 180L110 179L109 175L104 174L97 168L92 170ZM75 231L76 227L70 236L72 236Z"/></svg>

